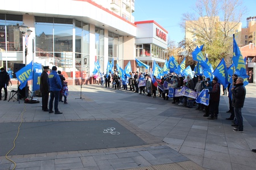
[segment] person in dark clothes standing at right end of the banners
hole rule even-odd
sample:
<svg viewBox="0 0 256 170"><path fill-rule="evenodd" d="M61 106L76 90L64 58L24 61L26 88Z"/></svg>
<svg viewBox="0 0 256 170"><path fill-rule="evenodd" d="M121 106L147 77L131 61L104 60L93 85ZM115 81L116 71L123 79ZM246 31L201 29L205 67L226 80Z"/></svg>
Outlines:
<svg viewBox="0 0 256 170"><path fill-rule="evenodd" d="M212 80L212 86L212 91L208 92L208 94L210 94L209 120L218 118L218 105L220 104L220 84L218 83L218 79L216 77Z"/></svg>

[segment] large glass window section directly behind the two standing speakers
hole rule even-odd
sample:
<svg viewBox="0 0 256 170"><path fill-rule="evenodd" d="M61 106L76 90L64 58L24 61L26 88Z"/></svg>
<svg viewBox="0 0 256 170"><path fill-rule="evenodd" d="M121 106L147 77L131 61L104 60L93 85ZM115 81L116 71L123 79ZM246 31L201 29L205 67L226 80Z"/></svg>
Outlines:
<svg viewBox="0 0 256 170"><path fill-rule="evenodd" d="M75 39L73 29L75 29ZM36 57L41 59L42 65L48 63L56 65L69 78L73 78L73 71L76 78L88 77L89 24L73 19L36 16L35 33ZM73 39L75 47L73 47ZM73 69L74 62L75 69Z"/></svg>

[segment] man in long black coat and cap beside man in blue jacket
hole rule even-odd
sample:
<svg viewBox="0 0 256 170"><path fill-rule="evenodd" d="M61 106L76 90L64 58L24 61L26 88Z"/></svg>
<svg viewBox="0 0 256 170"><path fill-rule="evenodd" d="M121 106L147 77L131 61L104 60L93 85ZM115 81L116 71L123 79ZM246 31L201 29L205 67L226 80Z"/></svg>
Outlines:
<svg viewBox="0 0 256 170"><path fill-rule="evenodd" d="M43 67L44 71L40 76L40 92L42 93L42 110L49 112L47 107L49 99L49 85L48 85L48 69L49 66Z"/></svg>

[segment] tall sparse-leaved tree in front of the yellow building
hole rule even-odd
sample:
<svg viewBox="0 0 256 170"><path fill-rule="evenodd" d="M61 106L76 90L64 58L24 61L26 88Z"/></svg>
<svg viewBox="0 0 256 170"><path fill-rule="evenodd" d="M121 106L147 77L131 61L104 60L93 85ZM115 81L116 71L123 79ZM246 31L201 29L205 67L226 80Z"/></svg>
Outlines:
<svg viewBox="0 0 256 170"><path fill-rule="evenodd" d="M232 35L241 30L246 11L242 0L198 0L192 11L183 14L180 23L188 33L186 36L196 37L198 46L204 44L211 62L219 62L231 54Z"/></svg>

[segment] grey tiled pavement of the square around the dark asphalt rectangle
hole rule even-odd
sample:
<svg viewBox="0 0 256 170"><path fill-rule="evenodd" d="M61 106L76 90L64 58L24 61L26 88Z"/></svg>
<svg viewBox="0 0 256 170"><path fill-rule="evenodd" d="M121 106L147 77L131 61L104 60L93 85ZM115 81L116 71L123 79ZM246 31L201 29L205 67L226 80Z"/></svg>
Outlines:
<svg viewBox="0 0 256 170"><path fill-rule="evenodd" d="M256 148L255 87L246 86L243 133L234 132L230 121L225 120L229 117L226 96L221 96L218 120L207 120L203 112L171 104L172 99L153 99L99 85L83 86L81 97L85 99L76 99L80 98L80 86L69 86L68 104L59 104L63 112L60 115L42 112L40 103L0 101L0 123L20 122L21 117L25 122L115 120L147 143L98 150L9 154L16 169L255 169L256 154L250 151ZM12 86L9 91L15 88ZM0 169L13 167L5 156L0 157Z"/></svg>

